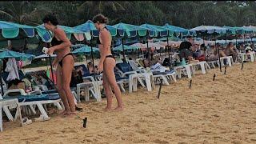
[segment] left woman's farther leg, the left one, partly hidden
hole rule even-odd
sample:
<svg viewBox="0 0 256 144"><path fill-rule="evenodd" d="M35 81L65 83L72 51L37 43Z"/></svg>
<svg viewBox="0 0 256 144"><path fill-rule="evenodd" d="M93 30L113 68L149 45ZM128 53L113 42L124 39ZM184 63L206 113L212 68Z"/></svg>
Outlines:
<svg viewBox="0 0 256 144"><path fill-rule="evenodd" d="M70 113L70 106L66 99L65 91L62 89L62 67L60 65L57 66L57 86L56 90L58 91L58 94L60 98L62 99L63 105L65 107L65 110L62 112L62 114Z"/></svg>

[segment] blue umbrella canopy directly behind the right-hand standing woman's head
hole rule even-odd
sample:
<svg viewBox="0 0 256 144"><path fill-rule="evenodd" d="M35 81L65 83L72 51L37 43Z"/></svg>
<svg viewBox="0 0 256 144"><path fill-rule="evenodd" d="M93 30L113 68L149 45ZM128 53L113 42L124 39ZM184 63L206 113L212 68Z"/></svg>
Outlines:
<svg viewBox="0 0 256 144"><path fill-rule="evenodd" d="M94 26L94 22L88 20L86 23L83 23L82 25L74 26L74 29L81 30L83 32L91 32L93 37L98 37L99 31ZM114 26L106 25L106 29L110 30L110 34L114 37L124 36L124 30L120 30L115 28Z"/></svg>

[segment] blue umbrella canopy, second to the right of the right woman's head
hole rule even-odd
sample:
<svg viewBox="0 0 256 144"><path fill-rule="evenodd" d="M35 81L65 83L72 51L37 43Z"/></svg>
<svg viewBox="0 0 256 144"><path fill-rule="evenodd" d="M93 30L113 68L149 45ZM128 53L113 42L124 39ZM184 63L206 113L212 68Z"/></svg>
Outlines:
<svg viewBox="0 0 256 144"><path fill-rule="evenodd" d="M169 30L167 30L162 26L155 26L155 25L150 25L146 23L141 25L141 27L146 28L147 30L154 31L154 37L167 37L169 34Z"/></svg>

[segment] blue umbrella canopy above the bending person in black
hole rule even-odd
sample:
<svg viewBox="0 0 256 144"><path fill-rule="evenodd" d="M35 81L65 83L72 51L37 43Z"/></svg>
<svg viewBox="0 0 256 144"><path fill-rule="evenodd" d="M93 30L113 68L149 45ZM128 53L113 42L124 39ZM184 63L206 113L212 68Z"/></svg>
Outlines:
<svg viewBox="0 0 256 144"><path fill-rule="evenodd" d="M165 26L163 26L164 28L169 30L169 33L171 32L171 34L176 34L177 36L182 34L182 35L194 35L194 32L190 32L190 30L182 28L182 27L178 27L178 26L171 26L168 23L166 23Z"/></svg>

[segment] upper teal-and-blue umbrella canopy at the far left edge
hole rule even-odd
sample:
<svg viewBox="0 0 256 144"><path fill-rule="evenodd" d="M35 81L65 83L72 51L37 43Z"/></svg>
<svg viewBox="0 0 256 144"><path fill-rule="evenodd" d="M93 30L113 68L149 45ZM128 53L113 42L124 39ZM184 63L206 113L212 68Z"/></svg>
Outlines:
<svg viewBox="0 0 256 144"><path fill-rule="evenodd" d="M16 38L20 32L20 29L25 32L27 37L34 37L33 26L20 25L14 22L0 21L0 29L4 38Z"/></svg>

